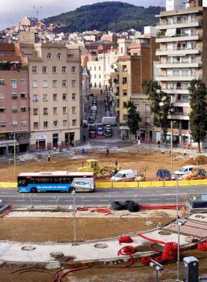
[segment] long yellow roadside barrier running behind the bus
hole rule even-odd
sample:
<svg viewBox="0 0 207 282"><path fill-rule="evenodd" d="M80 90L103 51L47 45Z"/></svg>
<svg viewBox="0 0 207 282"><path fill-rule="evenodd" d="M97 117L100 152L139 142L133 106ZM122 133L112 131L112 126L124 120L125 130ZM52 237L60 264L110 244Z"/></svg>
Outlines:
<svg viewBox="0 0 207 282"><path fill-rule="evenodd" d="M178 180L178 186L199 186L207 185L207 179L198 180ZM174 187L176 180L171 181L142 181L142 182L96 182L95 187L101 188L158 188ZM0 182L0 188L16 188L16 182Z"/></svg>

